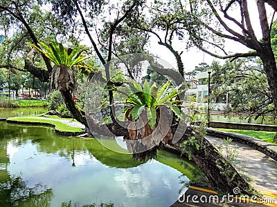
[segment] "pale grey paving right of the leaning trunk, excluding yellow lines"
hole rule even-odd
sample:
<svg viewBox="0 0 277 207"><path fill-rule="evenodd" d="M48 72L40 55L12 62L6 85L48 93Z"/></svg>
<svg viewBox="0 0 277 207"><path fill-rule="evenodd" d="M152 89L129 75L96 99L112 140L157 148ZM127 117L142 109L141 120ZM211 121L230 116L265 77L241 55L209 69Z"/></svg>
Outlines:
<svg viewBox="0 0 277 207"><path fill-rule="evenodd" d="M206 136L206 139L218 148L223 139ZM277 161L267 155L253 150L245 144L232 141L230 148L238 149L238 161L241 162L241 174L257 190L277 193ZM236 167L237 170L240 166Z"/></svg>

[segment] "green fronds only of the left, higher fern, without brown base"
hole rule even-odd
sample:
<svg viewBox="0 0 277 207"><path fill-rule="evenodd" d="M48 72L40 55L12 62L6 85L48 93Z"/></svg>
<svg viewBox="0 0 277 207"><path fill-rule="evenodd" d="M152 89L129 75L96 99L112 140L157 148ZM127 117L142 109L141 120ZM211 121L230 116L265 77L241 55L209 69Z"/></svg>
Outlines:
<svg viewBox="0 0 277 207"><path fill-rule="evenodd" d="M39 47L30 44L31 47L48 57L57 66L64 65L72 67L88 58L84 57L84 52L87 50L84 46L78 46L70 52L69 49L62 46L62 43L57 44L55 41L51 41L49 46L43 42L38 45Z"/></svg>

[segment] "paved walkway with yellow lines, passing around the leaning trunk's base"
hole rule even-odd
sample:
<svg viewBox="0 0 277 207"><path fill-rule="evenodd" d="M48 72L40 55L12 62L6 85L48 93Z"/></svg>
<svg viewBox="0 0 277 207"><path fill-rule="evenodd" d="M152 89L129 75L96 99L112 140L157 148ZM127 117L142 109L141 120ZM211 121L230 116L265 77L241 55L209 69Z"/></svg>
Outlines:
<svg viewBox="0 0 277 207"><path fill-rule="evenodd" d="M206 136L206 139L211 142L216 148L219 148L223 144L223 139ZM224 145L223 145L224 146ZM172 204L172 207L184 207L184 206L203 206L203 207L216 207L216 206L277 206L277 161L271 157L254 150L253 148L247 146L246 144L240 144L238 142L232 141L229 144L229 149L238 149L238 165L235 167L237 170L240 170L240 174L246 179L251 186L260 190L264 194L265 199L270 199L269 204L255 204L243 203L240 201L237 203L194 203L189 201L179 202L176 201ZM224 150L223 150L224 153ZM216 195L216 193L211 190L198 189L195 187L189 188L184 195L184 198L193 197L197 195L198 197L208 197L210 195ZM272 201L272 199L274 201ZM268 200L269 201L269 200ZM273 202L273 203L272 203Z"/></svg>

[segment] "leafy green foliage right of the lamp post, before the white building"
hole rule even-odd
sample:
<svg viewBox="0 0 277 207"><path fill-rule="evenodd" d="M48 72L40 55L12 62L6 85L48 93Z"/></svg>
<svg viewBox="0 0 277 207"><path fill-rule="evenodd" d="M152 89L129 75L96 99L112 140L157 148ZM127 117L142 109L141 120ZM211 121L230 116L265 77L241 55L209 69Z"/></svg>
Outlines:
<svg viewBox="0 0 277 207"><path fill-rule="evenodd" d="M274 112L271 92L262 65L255 58L226 61L223 65L213 62L213 96L228 93L226 112L249 115Z"/></svg>

